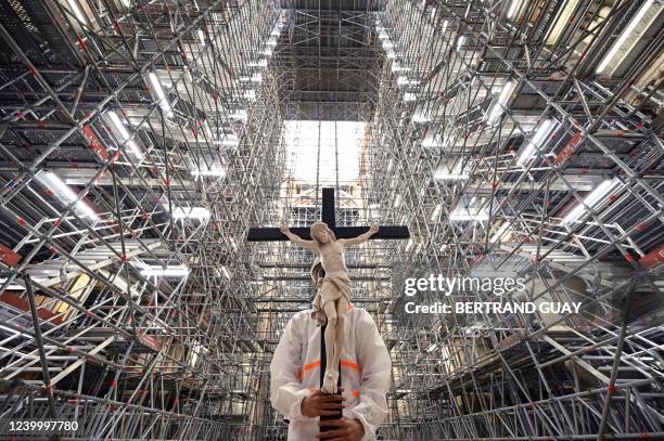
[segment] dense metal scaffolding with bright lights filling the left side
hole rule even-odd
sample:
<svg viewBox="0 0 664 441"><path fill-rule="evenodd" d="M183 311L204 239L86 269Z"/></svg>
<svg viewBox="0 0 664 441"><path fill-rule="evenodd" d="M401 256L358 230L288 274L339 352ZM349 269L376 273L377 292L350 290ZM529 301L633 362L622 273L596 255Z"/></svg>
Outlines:
<svg viewBox="0 0 664 441"><path fill-rule="evenodd" d="M261 390L243 237L279 196L260 61L280 11L0 5L4 415L76 419L81 439L241 437Z"/></svg>

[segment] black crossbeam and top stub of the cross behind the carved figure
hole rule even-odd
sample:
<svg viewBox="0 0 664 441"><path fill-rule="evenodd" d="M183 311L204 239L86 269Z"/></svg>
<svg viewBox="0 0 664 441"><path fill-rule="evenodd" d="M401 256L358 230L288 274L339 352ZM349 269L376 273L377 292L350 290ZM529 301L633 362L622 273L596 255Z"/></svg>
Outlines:
<svg viewBox="0 0 664 441"><path fill-rule="evenodd" d="M357 237L369 231L369 226L336 226L336 218L334 216L334 189L324 187L322 189L322 216L321 220L328 224L330 230L334 232L336 238L352 238ZM298 235L304 239L311 239L309 235L308 226L296 226L291 229L293 234ZM386 225L371 236L374 238L408 238L410 232L406 225ZM254 228L250 229L246 235L248 242L273 242L273 241L288 241L289 238L279 231L277 228Z"/></svg>

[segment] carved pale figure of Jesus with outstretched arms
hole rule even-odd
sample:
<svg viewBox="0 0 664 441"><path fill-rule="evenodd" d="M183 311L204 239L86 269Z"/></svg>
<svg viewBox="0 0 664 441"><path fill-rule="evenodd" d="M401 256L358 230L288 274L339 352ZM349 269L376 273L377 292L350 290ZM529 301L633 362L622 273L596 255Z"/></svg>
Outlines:
<svg viewBox="0 0 664 441"><path fill-rule="evenodd" d="M350 280L344 261L344 248L367 242L379 231L379 225L371 225L367 233L357 237L340 238L339 241L334 236L334 232L323 222L315 222L311 225L312 241L303 239L291 233L285 225L279 225L279 230L291 242L315 251L318 258L312 265L312 270L320 264L324 271L322 278L314 275L318 290L314 300L311 317L317 321L319 326L328 324L324 336L328 364L321 391L336 393L339 363L344 348L345 316L350 302ZM317 271L312 271L312 273L317 273Z"/></svg>

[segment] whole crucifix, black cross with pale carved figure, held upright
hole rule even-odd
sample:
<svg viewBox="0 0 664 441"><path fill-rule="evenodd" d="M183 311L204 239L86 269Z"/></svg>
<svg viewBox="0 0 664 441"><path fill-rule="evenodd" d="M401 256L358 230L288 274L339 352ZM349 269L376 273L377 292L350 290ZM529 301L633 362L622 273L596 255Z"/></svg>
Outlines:
<svg viewBox="0 0 664 441"><path fill-rule="evenodd" d="M400 239L410 237L408 228L405 225L388 225L388 226L336 226L336 219L334 212L334 189L325 187L322 189L322 224L316 222L311 229L309 228L294 228L290 230L286 226L277 228L252 228L248 230L247 241L248 242L271 242L271 241L293 241L294 243L315 250L319 258L317 262L328 262L328 267L324 270L331 270L330 274L325 274L322 271L323 283L319 286L319 291L314 302L315 312L311 314L312 317L316 314L320 317L322 309L323 319L319 319L320 332L320 389L324 393L337 393L339 387L341 387L341 363L340 356L343 351L343 336L344 328L336 326L336 317L339 314L345 314L347 300L349 301L350 293L350 281L347 278L345 273L345 263L343 263L342 248L344 246L350 246L362 243L373 238L384 239ZM325 225L327 224L327 225ZM314 232L316 230L316 232ZM378 231L376 231L378 230ZM321 236L322 234L322 236ZM330 237L332 244L330 244ZM341 241L340 241L341 239ZM347 239L347 241L345 241ZM339 242L337 242L339 241ZM342 244L342 245L340 245ZM332 248L330 248L332 247ZM337 247L336 251L341 257L341 265L334 269L334 260L340 259L334 257L334 247ZM325 259L323 259L325 257ZM316 263L315 263L316 267ZM312 269L315 268L312 267ZM343 268L343 271L339 269ZM316 282L318 280L316 278ZM342 297L342 291L344 298ZM321 296L322 293L322 296ZM325 300L328 296L329 300ZM322 300L319 300L322 298ZM332 302L334 300L334 302ZM322 302L322 308L320 303ZM333 303L333 304L331 304ZM330 309L330 307L332 307ZM336 310L335 310L336 308ZM316 311L318 310L318 311ZM327 320L325 320L327 319ZM342 317L343 319L343 317ZM328 333L325 332L328 321L331 321L331 327ZM343 323L343 322L342 322ZM339 333L339 334L337 334ZM336 335L336 337L335 337ZM325 341L328 340L328 341ZM331 349L333 348L334 349ZM334 355L331 355L334 354ZM328 359L332 356L328 368ZM334 366L336 363L336 366ZM336 387L334 386L336 385ZM340 411L336 415L321 416L321 420L340 419L342 418L342 412ZM321 427L321 431L329 430L330 427Z"/></svg>

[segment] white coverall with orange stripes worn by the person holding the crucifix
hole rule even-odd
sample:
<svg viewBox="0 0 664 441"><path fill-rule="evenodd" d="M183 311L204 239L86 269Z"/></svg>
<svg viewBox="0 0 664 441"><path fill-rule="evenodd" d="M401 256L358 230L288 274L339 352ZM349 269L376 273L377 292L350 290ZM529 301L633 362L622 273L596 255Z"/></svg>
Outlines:
<svg viewBox="0 0 664 441"><path fill-rule="evenodd" d="M288 323L270 364L270 400L291 423L289 441L316 440L320 418L303 416L301 403L320 385L320 327L311 310L296 313ZM352 304L345 321L346 341L341 358L342 387L346 397L343 416L365 427L362 441L375 440L375 429L387 415L392 373L390 353L369 313Z"/></svg>

